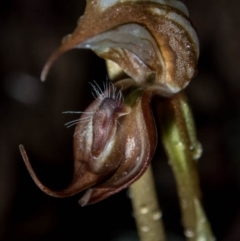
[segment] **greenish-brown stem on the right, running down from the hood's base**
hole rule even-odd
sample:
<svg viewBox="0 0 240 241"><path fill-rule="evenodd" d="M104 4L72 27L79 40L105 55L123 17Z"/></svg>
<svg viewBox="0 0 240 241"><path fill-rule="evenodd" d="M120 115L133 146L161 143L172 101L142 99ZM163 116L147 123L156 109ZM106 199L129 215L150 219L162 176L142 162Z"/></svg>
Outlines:
<svg viewBox="0 0 240 241"><path fill-rule="evenodd" d="M157 102L162 141L176 180L184 234L188 241L215 240L200 201L196 139L191 110L184 93Z"/></svg>

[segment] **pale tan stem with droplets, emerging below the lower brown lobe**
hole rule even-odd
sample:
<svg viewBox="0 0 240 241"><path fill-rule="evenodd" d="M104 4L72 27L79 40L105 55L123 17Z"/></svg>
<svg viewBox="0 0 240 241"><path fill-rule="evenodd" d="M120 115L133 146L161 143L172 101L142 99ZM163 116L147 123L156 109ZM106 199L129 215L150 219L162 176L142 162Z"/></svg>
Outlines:
<svg viewBox="0 0 240 241"><path fill-rule="evenodd" d="M165 241L151 166L130 186L134 218L141 241Z"/></svg>

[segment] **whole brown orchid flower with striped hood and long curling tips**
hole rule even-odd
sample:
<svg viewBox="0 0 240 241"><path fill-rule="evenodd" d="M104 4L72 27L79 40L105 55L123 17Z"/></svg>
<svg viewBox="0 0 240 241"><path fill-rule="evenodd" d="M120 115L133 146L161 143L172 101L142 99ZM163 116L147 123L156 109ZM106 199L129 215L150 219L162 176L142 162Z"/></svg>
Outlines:
<svg viewBox="0 0 240 241"><path fill-rule="evenodd" d="M129 78L109 84L104 92L94 87L97 98L76 126L68 188L45 187L23 146L20 150L40 189L65 197L90 188L80 199L86 205L126 188L145 172L157 143L151 99L155 94L170 97L187 86L195 74L199 46L179 1L88 0L76 30L46 63L42 80L59 55L73 48L93 50Z"/></svg>

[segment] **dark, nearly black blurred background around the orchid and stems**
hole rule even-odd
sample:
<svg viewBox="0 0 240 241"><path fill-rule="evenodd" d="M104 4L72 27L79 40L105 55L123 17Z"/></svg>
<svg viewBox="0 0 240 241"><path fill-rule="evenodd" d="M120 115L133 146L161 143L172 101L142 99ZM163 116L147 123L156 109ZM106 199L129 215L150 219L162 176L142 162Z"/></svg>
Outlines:
<svg viewBox="0 0 240 241"><path fill-rule="evenodd" d="M240 2L184 1L197 28L201 55L187 88L203 145L199 173L203 204L220 241L240 240ZM0 240L136 241L128 191L81 208L81 194L42 193L20 156L24 144L48 186L71 180L74 127L64 124L92 101L89 82L106 80L104 62L90 51L64 54L47 82L39 80L49 55L83 14L83 0L2 0L0 7ZM161 147L153 161L170 241L184 240L175 183ZM77 237L77 238L76 238Z"/></svg>

